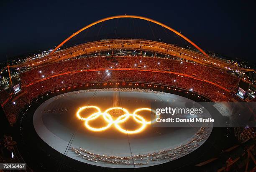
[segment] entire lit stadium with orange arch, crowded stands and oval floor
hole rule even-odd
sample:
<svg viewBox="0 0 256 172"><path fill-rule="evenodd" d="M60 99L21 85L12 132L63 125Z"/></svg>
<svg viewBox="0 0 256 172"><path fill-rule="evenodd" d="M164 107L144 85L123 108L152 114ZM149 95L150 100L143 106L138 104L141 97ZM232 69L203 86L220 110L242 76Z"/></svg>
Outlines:
<svg viewBox="0 0 256 172"><path fill-rule="evenodd" d="M117 19L150 22L193 48L137 37L79 42L88 29ZM1 163L38 172L255 170L255 71L207 54L156 20L118 15L92 22L3 72L1 120L10 133ZM249 123L153 124L157 105L202 104L207 119Z"/></svg>

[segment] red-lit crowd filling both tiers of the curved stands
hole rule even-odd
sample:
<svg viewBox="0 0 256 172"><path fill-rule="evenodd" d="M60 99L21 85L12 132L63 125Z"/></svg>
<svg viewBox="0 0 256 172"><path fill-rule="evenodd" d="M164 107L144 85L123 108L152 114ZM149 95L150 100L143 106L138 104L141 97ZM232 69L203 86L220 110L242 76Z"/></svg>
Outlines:
<svg viewBox="0 0 256 172"><path fill-rule="evenodd" d="M111 70L117 68L119 70ZM173 73L165 72L166 70ZM3 107L10 123L16 121L19 110L34 97L61 87L89 82L147 82L197 92L212 101L229 101L231 93L210 82L228 89L232 89L238 82L238 78L226 72L203 65L141 56L66 60L29 70L20 77L25 84L22 90L27 92L15 100L15 103L9 101ZM3 90L0 90L0 94L4 95L1 96L1 101L9 96Z"/></svg>

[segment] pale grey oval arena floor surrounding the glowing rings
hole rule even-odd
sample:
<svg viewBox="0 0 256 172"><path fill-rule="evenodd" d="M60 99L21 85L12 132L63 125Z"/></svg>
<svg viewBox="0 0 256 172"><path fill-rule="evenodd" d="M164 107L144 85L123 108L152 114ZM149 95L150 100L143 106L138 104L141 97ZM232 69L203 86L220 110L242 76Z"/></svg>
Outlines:
<svg viewBox="0 0 256 172"><path fill-rule="evenodd" d="M159 165L196 150L207 140L212 126L153 127L147 123L150 112L138 109L151 108L151 103L158 101L196 103L179 95L149 90L80 90L43 102L33 115L33 125L39 137L49 146L80 162L111 168ZM89 106L93 107L89 110ZM79 116L77 112L80 107L87 107L88 111L81 111ZM137 117L136 120L131 116L125 122L120 122L118 128L114 123L109 124L108 116L106 120L103 115L97 118L93 116L98 108L101 112L108 111L111 119L117 121L124 113L113 113L110 109L113 107L125 108L130 114L137 110L136 114L143 119L138 120ZM86 118L91 119L87 125ZM204 133L204 137L198 137L198 133ZM195 139L197 142L192 141Z"/></svg>

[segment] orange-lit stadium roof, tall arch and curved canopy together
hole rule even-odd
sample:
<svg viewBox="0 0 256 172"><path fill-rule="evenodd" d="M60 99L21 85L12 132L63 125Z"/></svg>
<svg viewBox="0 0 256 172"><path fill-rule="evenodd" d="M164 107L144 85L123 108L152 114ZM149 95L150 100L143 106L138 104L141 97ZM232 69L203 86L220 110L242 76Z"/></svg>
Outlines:
<svg viewBox="0 0 256 172"><path fill-rule="evenodd" d="M189 42L191 45L196 47L200 52L202 52L202 54L195 51L186 50L182 47L166 44L163 42L156 42L151 40L135 40L135 39L119 39L119 40L87 42L85 44L70 47L61 51L56 51L59 49L59 47L64 45L67 41L72 39L72 37L74 37L75 35L78 35L83 30L93 25L96 25L100 22L104 22L106 20L112 20L116 18L137 18L141 20L147 20L157 25L160 25L162 27L165 27L166 29L171 30L175 34L187 40L187 42ZM187 37L185 37L181 33L177 32L176 30L172 29L171 27L164 25L163 23L158 22L156 20L152 20L147 17L141 17L136 15L116 15L113 17L107 17L107 18L98 20L96 22L93 22L90 25L83 27L82 29L78 30L77 32L69 36L66 40L61 42L49 55L46 55L44 57L34 59L34 60L28 60L26 62L20 63L18 65L12 65L10 67L36 67L38 65L47 65L48 63L57 62L59 60L65 60L68 58L76 57L78 55L90 54L92 52L100 52L104 50L115 50L115 49L133 49L133 50L142 50L142 51L153 51L160 54L182 57L184 59L195 61L202 65L213 64L215 65L215 67L219 67L222 69L224 68L228 70L242 71L242 72L254 71L251 69L245 69L242 67L234 66L228 63L226 60L221 60L216 57L209 56L194 42L189 40Z"/></svg>

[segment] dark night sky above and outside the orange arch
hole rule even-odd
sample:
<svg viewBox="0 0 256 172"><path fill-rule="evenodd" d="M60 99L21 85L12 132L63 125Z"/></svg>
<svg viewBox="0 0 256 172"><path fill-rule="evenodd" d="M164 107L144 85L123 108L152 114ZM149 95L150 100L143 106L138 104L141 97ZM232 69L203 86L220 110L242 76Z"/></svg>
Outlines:
<svg viewBox="0 0 256 172"><path fill-rule="evenodd" d="M58 45L85 25L141 15L182 32L202 49L256 62L256 3L248 1L1 1L0 60Z"/></svg>

